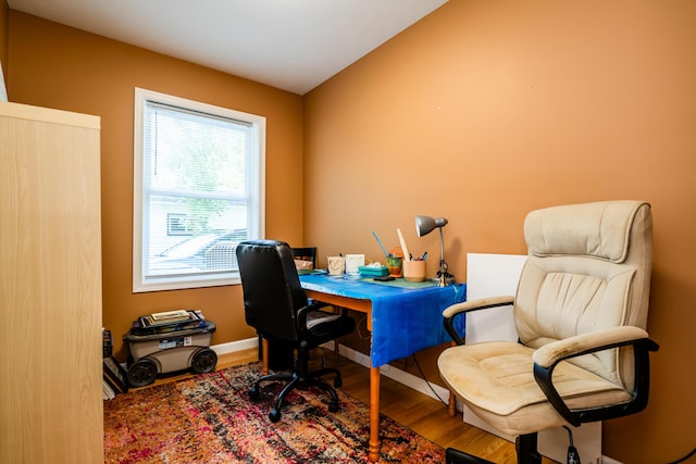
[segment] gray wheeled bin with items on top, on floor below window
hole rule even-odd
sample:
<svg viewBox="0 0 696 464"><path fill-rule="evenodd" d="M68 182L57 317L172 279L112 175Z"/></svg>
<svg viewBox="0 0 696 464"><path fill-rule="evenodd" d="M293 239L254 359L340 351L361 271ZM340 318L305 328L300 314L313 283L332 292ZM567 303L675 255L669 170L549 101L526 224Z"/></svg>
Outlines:
<svg viewBox="0 0 696 464"><path fill-rule="evenodd" d="M148 316L144 316L123 336L130 350L127 378L132 387L150 385L161 374L188 368L203 374L215 368L217 354L209 348L215 324L200 312L189 312L199 318L197 324L189 321L145 327L142 319Z"/></svg>

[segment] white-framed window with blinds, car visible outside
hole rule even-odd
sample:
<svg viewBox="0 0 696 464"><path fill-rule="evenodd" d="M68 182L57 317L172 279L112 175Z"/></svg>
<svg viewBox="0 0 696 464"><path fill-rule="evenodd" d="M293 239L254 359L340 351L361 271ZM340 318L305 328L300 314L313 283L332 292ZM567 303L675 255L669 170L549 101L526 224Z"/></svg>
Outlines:
<svg viewBox="0 0 696 464"><path fill-rule="evenodd" d="M263 236L265 118L136 88L133 291L239 283Z"/></svg>

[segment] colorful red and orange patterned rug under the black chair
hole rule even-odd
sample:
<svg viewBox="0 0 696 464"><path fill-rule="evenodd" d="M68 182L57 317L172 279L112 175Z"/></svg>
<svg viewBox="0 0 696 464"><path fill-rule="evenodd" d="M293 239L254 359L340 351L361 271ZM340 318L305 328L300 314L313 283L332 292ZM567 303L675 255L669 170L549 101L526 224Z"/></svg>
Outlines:
<svg viewBox="0 0 696 464"><path fill-rule="evenodd" d="M281 421L269 412L279 383L248 389L251 363L119 394L104 401L105 463L366 463L370 412L338 391L340 411L313 388L291 392ZM381 463L444 463L437 444L381 416Z"/></svg>

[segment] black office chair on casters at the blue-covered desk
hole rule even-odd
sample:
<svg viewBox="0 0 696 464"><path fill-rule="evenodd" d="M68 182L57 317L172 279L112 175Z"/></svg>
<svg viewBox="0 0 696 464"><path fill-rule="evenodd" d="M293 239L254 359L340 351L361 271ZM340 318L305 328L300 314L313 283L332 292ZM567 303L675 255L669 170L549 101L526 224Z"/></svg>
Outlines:
<svg viewBox="0 0 696 464"><path fill-rule="evenodd" d="M271 422L281 418L285 398L298 386L315 386L327 391L331 396L328 411L338 411L336 390L320 377L334 374L334 386L340 387L340 373L324 366L310 372L309 352L322 343L350 334L355 321L346 313L321 311L320 308L325 306L323 303L308 302L287 243L275 240L243 241L237 246L237 262L247 324L265 340L297 350L294 372L259 378L249 390L251 398L259 398L259 386L263 381L289 380L269 414Z"/></svg>

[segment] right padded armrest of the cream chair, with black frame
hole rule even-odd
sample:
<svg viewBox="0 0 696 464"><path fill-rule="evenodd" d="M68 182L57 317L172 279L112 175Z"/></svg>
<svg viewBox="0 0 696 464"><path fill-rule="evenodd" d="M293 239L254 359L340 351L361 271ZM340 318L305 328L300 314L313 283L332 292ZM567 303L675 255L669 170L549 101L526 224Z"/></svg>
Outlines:
<svg viewBox="0 0 696 464"><path fill-rule="evenodd" d="M584 410L570 410L554 386L554 368L563 360L612 348L633 346L635 380L632 399L622 404ZM648 402L650 388L649 352L659 346L638 327L622 326L593 334L584 334L548 343L533 354L534 378L556 411L569 424L577 427L582 423L622 417L643 411Z"/></svg>

